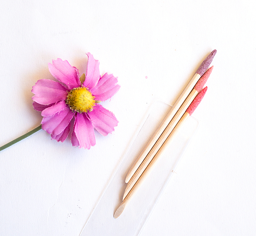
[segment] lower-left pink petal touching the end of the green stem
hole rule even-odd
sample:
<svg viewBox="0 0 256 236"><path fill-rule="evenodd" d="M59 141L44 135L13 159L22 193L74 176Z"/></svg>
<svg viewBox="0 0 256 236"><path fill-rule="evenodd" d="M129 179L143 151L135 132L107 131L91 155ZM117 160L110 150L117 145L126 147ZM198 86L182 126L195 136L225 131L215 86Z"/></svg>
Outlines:
<svg viewBox="0 0 256 236"><path fill-rule="evenodd" d="M61 134L73 118L74 113L70 108L64 108L62 111L54 114L51 117L44 117L42 119L42 129L47 131L48 134L56 136Z"/></svg>

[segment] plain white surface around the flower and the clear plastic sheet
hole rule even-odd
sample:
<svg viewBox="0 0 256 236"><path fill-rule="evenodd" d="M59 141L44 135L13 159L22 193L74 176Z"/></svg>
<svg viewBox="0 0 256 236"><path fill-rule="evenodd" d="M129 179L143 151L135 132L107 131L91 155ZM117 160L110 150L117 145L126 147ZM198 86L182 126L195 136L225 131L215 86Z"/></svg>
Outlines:
<svg viewBox="0 0 256 236"><path fill-rule="evenodd" d="M156 100L175 103L217 54L193 114L200 127L141 236L256 232L256 17L245 1L5 1L0 7L0 145L40 125L31 89L60 57L90 52L121 89L119 125L74 148L45 131L0 152L0 235L78 236ZM120 232L125 235L125 232Z"/></svg>

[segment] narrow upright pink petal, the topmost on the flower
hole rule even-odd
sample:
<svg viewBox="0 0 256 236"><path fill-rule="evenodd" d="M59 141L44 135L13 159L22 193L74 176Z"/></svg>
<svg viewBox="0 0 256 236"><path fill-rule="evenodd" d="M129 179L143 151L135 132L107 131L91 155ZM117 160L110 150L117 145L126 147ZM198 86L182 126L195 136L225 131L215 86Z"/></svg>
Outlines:
<svg viewBox="0 0 256 236"><path fill-rule="evenodd" d="M93 58L93 55L89 52L87 53L88 63L87 63L87 71L84 80L84 87L88 87L89 89L93 88L97 82L99 81L99 61Z"/></svg>

